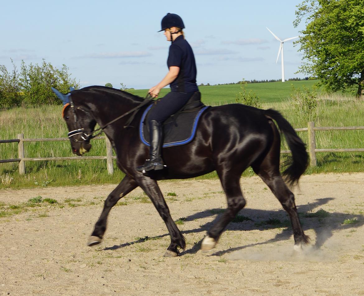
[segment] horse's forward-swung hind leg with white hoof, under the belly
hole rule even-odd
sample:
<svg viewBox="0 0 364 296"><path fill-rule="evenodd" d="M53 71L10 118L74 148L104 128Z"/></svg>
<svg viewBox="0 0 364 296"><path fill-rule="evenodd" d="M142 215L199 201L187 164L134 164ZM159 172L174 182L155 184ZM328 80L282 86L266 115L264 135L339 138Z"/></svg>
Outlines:
<svg viewBox="0 0 364 296"><path fill-rule="evenodd" d="M217 170L217 173L226 194L227 209L202 240L201 250L204 252L212 250L216 246L222 231L246 204L239 183L241 173L226 170Z"/></svg>

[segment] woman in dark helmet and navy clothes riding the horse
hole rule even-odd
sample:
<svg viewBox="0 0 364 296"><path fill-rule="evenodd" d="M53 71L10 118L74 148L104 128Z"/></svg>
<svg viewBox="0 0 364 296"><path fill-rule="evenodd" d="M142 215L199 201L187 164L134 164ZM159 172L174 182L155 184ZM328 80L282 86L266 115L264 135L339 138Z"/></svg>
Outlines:
<svg viewBox="0 0 364 296"><path fill-rule="evenodd" d="M190 44L186 41L182 29L185 28L180 16L167 13L162 19L162 30L171 41L167 66L169 72L156 86L151 87L148 93L158 97L159 91L170 84L171 92L155 101L150 110L148 124L150 129L150 159L137 167L138 171L161 170L163 160L161 158L162 123L169 116L176 113L189 98L198 91L196 84L196 62Z"/></svg>

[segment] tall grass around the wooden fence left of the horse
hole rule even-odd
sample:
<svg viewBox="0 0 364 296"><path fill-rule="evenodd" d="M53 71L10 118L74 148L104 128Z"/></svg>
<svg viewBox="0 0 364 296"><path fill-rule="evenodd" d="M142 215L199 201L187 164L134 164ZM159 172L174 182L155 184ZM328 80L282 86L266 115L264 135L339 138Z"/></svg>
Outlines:
<svg viewBox="0 0 364 296"><path fill-rule="evenodd" d="M18 133L25 138L67 137L67 126L61 117L60 106L14 108L0 112L0 139L16 139ZM104 140L93 140L89 156L106 155ZM69 141L24 142L25 157L74 156ZM1 143L0 159L17 158L17 143ZM26 175L17 172L18 163L0 164L0 175L11 176L11 184L4 187L58 186L65 184L118 183L122 172L107 174L106 160L26 161ZM3 178L1 179L3 180ZM9 183L9 182L7 182Z"/></svg>

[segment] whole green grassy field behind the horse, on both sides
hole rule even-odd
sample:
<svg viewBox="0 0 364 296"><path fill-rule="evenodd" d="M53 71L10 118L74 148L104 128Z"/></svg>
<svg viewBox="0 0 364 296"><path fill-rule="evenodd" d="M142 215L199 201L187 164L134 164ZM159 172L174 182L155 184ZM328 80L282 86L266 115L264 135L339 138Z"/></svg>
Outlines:
<svg viewBox="0 0 364 296"><path fill-rule="evenodd" d="M312 87L313 81L295 81L297 88L305 84ZM312 120L316 126L364 126L364 102L354 97L324 96L317 100L317 108L308 117L297 112L290 97L291 82L252 83L247 85L261 98L264 109L279 110L294 128L307 126ZM240 85L200 87L206 105L234 102ZM145 96L146 90L133 90ZM167 93L161 91L161 95ZM0 139L16 139L18 133L25 138L58 138L67 136L67 127L61 118L61 106L39 108L14 108L0 111ZM298 135L308 141L307 132ZM320 131L316 132L317 148L364 148L364 131ZM92 149L87 155L106 155L104 140L92 140ZM25 143L25 157L73 156L69 141ZM282 141L282 149L287 149ZM282 156L285 159L286 155ZM0 143L0 159L17 158L17 143ZM364 172L364 153L317 153L317 167L306 173L319 172ZM0 188L22 188L39 186L64 186L76 184L118 183L123 174L114 163L114 175L109 176L106 160L76 161L27 161L26 175L19 175L17 163L0 164ZM248 169L244 175L252 175ZM216 178L209 174L200 178Z"/></svg>

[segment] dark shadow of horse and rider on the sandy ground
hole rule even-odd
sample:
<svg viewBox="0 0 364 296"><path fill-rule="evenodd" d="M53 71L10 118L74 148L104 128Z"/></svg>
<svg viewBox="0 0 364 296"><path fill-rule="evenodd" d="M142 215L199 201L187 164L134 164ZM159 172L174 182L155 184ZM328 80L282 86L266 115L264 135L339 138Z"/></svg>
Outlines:
<svg viewBox="0 0 364 296"><path fill-rule="evenodd" d="M317 209L320 209L320 206L327 204L330 200L333 200L334 198L320 198L316 199L315 202L309 203L307 205L300 205L297 206L297 211L300 216L302 228L306 231L309 229L313 229L316 233L316 240L314 247L316 249L320 249L321 246L324 245L324 243L333 235L333 231L335 230L343 230L353 227L360 227L364 224L364 221L361 219L362 215L352 215L347 213L329 213L327 214L328 217L320 218L315 217L314 212L317 213ZM223 212L223 209L209 209L204 210L198 213L194 213L192 215L189 215L188 217L185 217L184 221L193 221L194 219L201 219L201 218L207 218L214 216L216 214L217 217L211 221L207 222L204 225L201 225L199 228L195 229L189 229L185 231L181 231L182 234L189 234L189 233L199 233L203 231L207 231L214 225L217 219L219 219L219 216ZM292 236L292 227L289 222L288 214L285 210L256 210L256 209L242 209L238 215L244 215L245 218L250 219L248 223L234 223L231 222L227 226L226 230L230 231L249 231L249 230L268 230L268 229L274 229L274 228L280 228L283 229L280 233L277 233L274 238L268 239L265 242L259 242L256 244L249 244L244 246L238 246L236 248L229 248L227 250L215 252L211 255L215 256L221 256L226 253L234 252L237 250L242 250L245 248L249 248L252 246L257 245L265 245L270 244L272 242L278 242L278 241L286 241ZM355 224L347 224L344 225L344 220L353 220L356 219ZM156 238L162 238L169 235L169 233L156 235L155 237L145 237L140 238L132 242L126 242L121 245L114 245L112 247L104 248L104 250L116 250L119 248L124 248L126 246L130 246L132 244L138 244L145 242L149 239L156 239ZM203 238L202 238L203 239ZM195 254L200 250L201 248L201 242L202 239L198 242L195 242L194 246L191 249L185 250L180 253L180 255L184 254Z"/></svg>

